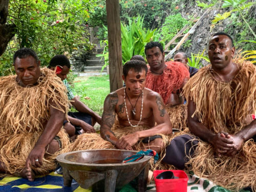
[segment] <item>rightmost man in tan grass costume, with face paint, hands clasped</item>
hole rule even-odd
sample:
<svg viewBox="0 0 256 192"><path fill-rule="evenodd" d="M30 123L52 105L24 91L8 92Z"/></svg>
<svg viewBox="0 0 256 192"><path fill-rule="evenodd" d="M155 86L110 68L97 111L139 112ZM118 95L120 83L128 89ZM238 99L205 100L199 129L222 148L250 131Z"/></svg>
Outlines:
<svg viewBox="0 0 256 192"><path fill-rule="evenodd" d="M184 87L189 131L172 140L163 161L231 190L256 191L256 67L233 59L234 51L228 34L210 38L211 65Z"/></svg>

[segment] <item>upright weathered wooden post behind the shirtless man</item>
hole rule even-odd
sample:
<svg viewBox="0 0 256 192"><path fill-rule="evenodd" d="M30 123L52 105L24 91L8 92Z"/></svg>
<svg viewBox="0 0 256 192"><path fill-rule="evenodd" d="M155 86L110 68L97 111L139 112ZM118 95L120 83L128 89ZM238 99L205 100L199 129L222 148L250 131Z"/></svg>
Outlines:
<svg viewBox="0 0 256 192"><path fill-rule="evenodd" d="M119 16L119 0L106 0L108 23L110 92L122 87L122 47Z"/></svg>

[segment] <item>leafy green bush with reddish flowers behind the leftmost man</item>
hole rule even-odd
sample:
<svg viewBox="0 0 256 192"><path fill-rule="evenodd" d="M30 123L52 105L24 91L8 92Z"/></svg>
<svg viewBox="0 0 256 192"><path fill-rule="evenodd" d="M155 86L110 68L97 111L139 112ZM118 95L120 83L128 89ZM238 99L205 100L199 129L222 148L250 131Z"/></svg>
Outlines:
<svg viewBox="0 0 256 192"><path fill-rule="evenodd" d="M8 24L15 24L16 34L6 52L0 57L1 68L10 72L12 55L22 47L32 48L48 65L56 54L72 53L74 50L90 50L89 33L83 23L89 19L87 9L94 1L88 0L17 0L9 3ZM4 65L3 65L4 64Z"/></svg>

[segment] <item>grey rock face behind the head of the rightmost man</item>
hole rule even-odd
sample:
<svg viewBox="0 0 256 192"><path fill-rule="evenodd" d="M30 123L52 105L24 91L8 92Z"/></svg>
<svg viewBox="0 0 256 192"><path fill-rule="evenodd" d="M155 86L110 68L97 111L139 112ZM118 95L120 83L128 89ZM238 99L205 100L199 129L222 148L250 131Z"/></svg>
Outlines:
<svg viewBox="0 0 256 192"><path fill-rule="evenodd" d="M203 15L204 11L206 9L202 9L198 6L196 6L196 3L191 3L193 1L185 1L183 2L183 5L181 5L181 14L183 17L187 18L187 15L195 15L197 14L198 16ZM201 1L206 4L209 4L208 1ZM220 24L216 24L214 28L211 28L212 23L211 21L215 18L215 16L220 13L223 14L224 12L230 11L230 8L224 9L219 9L221 7L220 4L215 5L215 7L212 7L210 12L207 14L207 16L203 19L202 23L197 27L196 31L189 35L188 39L191 40L191 46L188 48L183 48L181 47L179 51L183 51L187 53L187 55L190 57L190 53L197 54L198 52L202 52L205 49L205 53L207 54L208 50L208 41L214 33L217 32L226 32L229 35L233 37L233 40L236 42L236 37L242 33L242 31L245 29L245 25L242 25L241 27L239 26L234 26L232 25L232 18L228 17L227 19L222 20ZM254 25L251 25L250 27L253 29L253 31L256 31L256 6L252 6L250 10L248 11L247 19L254 19L255 23ZM188 19L188 18L187 18ZM237 21L239 22L239 20ZM242 22L242 18L240 18L240 22ZM250 33L250 32L248 32ZM187 39L187 40L188 40ZM248 36L248 39L243 39L243 40L253 40L253 36ZM254 39L255 40L255 39ZM253 45L252 45L253 46ZM252 47L253 48L253 47ZM241 49L241 47L238 47L238 49ZM255 47L256 49L256 47ZM202 59L203 65L206 65L206 61Z"/></svg>

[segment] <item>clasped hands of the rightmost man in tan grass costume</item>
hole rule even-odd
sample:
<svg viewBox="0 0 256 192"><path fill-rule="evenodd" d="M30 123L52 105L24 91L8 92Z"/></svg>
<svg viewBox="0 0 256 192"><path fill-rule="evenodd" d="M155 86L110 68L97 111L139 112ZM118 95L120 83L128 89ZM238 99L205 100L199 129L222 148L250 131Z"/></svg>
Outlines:
<svg viewBox="0 0 256 192"><path fill-rule="evenodd" d="M244 140L238 135L230 135L226 132L216 134L211 141L218 156L234 156L242 147Z"/></svg>

